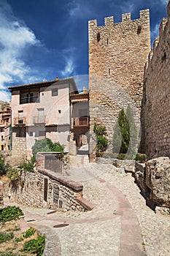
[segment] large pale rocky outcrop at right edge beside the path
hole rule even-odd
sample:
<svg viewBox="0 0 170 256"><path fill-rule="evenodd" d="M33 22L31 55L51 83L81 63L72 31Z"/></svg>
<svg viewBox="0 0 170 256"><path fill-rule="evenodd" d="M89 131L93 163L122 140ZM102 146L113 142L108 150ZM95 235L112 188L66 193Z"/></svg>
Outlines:
<svg viewBox="0 0 170 256"><path fill-rule="evenodd" d="M149 206L170 214L170 159L158 157L144 164L136 162L135 180Z"/></svg>

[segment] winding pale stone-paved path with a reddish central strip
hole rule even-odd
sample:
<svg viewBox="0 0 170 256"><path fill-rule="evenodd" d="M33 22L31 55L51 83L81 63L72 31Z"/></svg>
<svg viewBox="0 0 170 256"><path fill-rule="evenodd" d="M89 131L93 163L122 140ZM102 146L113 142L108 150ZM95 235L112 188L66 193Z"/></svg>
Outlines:
<svg viewBox="0 0 170 256"><path fill-rule="evenodd" d="M34 219L28 224L47 236L44 255L170 255L169 216L148 208L134 178L122 169L85 165L83 159L77 160L78 167L73 166L69 176L82 179L84 197L95 205L92 211L48 214L52 211L22 207L25 219ZM69 225L53 227L61 223Z"/></svg>

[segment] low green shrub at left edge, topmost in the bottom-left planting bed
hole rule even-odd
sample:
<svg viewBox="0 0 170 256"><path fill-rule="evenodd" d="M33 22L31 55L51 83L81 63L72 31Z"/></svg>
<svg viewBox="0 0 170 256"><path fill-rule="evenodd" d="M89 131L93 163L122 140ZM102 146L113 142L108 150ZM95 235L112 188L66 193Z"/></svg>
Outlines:
<svg viewBox="0 0 170 256"><path fill-rule="evenodd" d="M23 215L23 211L16 206L8 206L0 210L0 222L8 222L12 219L18 219Z"/></svg>

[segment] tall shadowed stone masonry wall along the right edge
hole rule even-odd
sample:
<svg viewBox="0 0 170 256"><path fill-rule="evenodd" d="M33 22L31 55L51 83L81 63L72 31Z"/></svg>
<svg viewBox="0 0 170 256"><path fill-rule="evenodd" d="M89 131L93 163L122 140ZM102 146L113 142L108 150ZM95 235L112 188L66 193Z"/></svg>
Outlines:
<svg viewBox="0 0 170 256"><path fill-rule="evenodd" d="M144 71L141 151L170 157L170 1Z"/></svg>

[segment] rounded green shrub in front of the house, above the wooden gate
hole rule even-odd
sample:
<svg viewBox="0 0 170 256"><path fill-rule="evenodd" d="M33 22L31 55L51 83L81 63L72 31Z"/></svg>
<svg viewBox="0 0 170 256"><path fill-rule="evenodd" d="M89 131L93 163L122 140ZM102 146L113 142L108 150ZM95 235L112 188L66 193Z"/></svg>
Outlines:
<svg viewBox="0 0 170 256"><path fill-rule="evenodd" d="M63 150L63 145L59 142L53 143L49 138L36 140L34 146L32 146L34 157L38 152L61 152L63 154Z"/></svg>

